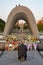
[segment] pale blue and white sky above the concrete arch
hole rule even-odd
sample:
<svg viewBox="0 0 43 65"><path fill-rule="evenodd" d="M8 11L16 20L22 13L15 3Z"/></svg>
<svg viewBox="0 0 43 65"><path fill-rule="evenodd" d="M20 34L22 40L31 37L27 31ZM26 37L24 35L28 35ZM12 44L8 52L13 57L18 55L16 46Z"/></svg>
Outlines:
<svg viewBox="0 0 43 65"><path fill-rule="evenodd" d="M43 0L0 0L0 18L6 21L10 11L18 4L31 9L36 20L43 17Z"/></svg>

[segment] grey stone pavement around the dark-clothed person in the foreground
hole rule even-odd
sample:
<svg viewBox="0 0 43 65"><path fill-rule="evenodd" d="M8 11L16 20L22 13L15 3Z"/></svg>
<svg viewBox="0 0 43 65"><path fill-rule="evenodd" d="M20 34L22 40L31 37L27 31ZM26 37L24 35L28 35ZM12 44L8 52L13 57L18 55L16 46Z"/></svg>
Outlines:
<svg viewBox="0 0 43 65"><path fill-rule="evenodd" d="M17 59L17 51L5 51L0 57L0 65L43 65L43 58L37 51L28 51L27 60Z"/></svg>

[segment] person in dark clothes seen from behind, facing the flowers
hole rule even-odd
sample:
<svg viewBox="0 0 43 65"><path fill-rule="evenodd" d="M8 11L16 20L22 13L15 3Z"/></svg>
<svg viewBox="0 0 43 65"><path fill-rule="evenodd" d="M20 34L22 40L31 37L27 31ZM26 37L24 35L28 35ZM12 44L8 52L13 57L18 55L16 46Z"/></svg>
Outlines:
<svg viewBox="0 0 43 65"><path fill-rule="evenodd" d="M21 41L21 44L18 46L18 59L20 59L21 56L22 56L26 60L26 57L27 57L27 52L26 51L27 51L27 47Z"/></svg>

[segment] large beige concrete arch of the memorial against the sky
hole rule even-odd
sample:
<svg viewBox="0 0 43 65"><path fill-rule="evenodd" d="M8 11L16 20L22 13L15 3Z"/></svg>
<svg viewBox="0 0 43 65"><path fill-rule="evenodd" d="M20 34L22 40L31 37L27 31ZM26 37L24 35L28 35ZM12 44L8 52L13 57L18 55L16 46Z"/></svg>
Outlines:
<svg viewBox="0 0 43 65"><path fill-rule="evenodd" d="M38 32L34 15L32 11L25 6L17 6L14 9L12 9L12 11L10 12L3 33L4 38L7 36L7 34L10 34L14 24L19 19L26 20L26 22L30 26L32 34L35 37L39 38L39 32Z"/></svg>

